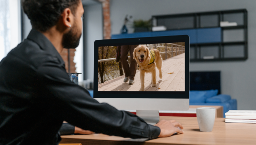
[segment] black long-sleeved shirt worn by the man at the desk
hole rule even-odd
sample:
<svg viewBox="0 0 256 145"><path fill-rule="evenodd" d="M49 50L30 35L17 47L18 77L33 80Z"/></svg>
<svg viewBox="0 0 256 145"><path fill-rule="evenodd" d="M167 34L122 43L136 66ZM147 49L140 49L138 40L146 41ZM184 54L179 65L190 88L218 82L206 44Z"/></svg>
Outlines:
<svg viewBox="0 0 256 145"><path fill-rule="evenodd" d="M66 121L93 132L157 138L160 128L91 98L72 83L52 43L32 29L0 62L0 145L57 145Z"/></svg>

